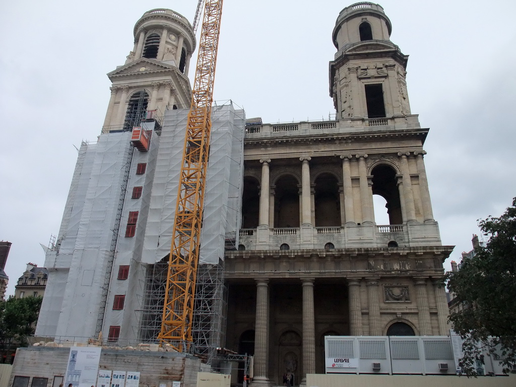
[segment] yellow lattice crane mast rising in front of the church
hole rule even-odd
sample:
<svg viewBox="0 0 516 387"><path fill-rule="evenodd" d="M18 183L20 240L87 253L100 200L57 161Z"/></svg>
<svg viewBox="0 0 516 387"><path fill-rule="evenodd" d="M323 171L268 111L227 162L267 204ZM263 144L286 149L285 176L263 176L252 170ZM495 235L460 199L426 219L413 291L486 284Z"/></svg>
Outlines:
<svg viewBox="0 0 516 387"><path fill-rule="evenodd" d="M163 307L160 343L184 352L192 343L206 170L211 133L215 65L223 0L206 0L199 56L186 126L178 201Z"/></svg>

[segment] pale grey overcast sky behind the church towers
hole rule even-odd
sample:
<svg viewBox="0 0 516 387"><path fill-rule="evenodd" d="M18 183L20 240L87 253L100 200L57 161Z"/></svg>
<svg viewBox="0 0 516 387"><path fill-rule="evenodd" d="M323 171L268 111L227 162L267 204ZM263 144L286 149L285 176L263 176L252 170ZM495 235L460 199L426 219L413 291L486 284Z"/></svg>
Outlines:
<svg viewBox="0 0 516 387"><path fill-rule="evenodd" d="M338 13L352 2L224 0L215 100L264 122L328 118L328 62ZM430 133L425 163L446 262L471 250L477 219L516 196L513 0L384 0L391 40L410 55L411 110ZM143 12L193 20L197 0L0 3L0 240L12 243L7 293L56 235L82 140L96 141L105 75L133 48ZM511 25L513 27L511 27ZM193 74L195 60L191 61Z"/></svg>

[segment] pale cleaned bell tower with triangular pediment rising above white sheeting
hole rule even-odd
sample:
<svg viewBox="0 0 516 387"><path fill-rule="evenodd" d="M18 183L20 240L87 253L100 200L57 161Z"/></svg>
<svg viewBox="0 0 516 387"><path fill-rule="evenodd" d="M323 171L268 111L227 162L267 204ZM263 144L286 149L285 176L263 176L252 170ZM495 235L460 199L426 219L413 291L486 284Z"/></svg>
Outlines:
<svg viewBox="0 0 516 387"><path fill-rule="evenodd" d="M190 105L190 58L196 47L188 20L170 9L145 12L134 27L134 47L107 74L111 98L102 133L130 131L144 116ZM150 111L150 113L148 113Z"/></svg>

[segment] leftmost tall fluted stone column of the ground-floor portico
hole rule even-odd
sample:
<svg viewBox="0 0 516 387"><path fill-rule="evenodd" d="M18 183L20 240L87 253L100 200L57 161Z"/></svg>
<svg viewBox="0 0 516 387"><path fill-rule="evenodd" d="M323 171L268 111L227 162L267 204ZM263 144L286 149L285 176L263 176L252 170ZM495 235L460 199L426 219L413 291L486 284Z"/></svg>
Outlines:
<svg viewBox="0 0 516 387"><path fill-rule="evenodd" d="M266 385L269 346L269 280L256 280L256 326L254 337L254 377L251 385Z"/></svg>

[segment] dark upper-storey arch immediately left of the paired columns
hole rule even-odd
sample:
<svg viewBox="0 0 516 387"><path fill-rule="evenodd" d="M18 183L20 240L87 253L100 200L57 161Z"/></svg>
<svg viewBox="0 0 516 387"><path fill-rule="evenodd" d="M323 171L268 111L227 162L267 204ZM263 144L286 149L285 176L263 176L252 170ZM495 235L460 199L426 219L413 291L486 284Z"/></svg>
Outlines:
<svg viewBox="0 0 516 387"><path fill-rule="evenodd" d="M341 225L341 202L337 179L331 173L322 173L315 179L315 227Z"/></svg>

